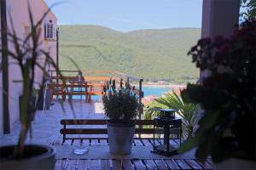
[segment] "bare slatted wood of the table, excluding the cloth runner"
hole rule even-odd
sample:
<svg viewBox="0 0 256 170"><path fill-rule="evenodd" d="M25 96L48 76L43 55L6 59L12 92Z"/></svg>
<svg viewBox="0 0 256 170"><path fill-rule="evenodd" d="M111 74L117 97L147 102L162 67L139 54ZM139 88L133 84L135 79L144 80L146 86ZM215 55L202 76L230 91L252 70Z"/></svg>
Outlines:
<svg viewBox="0 0 256 170"><path fill-rule="evenodd" d="M52 145L108 145L105 139L82 139L66 140L61 139L49 141ZM172 144L177 144L173 141ZM152 146L152 140L134 140L134 146ZM174 157L174 158L173 158ZM57 159L55 170L64 169L212 169L212 161L208 159L204 164L193 158L176 158L175 156L165 159Z"/></svg>

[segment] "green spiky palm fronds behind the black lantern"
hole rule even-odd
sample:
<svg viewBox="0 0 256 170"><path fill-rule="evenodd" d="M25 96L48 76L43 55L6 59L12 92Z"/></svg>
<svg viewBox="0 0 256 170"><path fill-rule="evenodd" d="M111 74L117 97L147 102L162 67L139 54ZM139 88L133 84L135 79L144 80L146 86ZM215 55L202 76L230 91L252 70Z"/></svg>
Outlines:
<svg viewBox="0 0 256 170"><path fill-rule="evenodd" d="M180 90L181 92L181 90ZM195 104L189 99L188 95L178 96L175 91L165 94L164 97L155 99L161 105L165 105L167 108L177 110L177 114L183 118L183 137L186 139L195 132L195 126L197 123Z"/></svg>

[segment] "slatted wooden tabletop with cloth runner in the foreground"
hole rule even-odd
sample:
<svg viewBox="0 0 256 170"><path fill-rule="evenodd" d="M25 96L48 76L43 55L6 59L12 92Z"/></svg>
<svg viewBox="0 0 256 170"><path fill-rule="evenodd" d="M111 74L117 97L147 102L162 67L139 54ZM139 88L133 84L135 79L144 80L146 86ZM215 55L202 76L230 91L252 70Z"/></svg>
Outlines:
<svg viewBox="0 0 256 170"><path fill-rule="evenodd" d="M177 156L159 156L150 153L148 140L135 140L132 154L128 156L111 155L108 143L102 140L66 140L64 143L53 141L56 149L55 169L212 169L212 161L205 164L197 161L194 155L186 153ZM73 154L73 145L89 145L89 153L78 156ZM144 153L144 154L143 154ZM151 155L150 155L151 154Z"/></svg>

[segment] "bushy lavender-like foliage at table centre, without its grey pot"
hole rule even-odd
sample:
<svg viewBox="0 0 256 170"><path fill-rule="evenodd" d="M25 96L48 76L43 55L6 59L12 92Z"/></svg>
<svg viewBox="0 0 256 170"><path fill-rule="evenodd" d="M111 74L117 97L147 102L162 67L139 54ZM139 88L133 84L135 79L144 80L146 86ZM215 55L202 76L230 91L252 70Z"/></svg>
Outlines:
<svg viewBox="0 0 256 170"><path fill-rule="evenodd" d="M137 118L139 104L133 90L123 88L122 80L119 89L116 89L115 80L107 82L102 102L105 114L111 122L132 122Z"/></svg>

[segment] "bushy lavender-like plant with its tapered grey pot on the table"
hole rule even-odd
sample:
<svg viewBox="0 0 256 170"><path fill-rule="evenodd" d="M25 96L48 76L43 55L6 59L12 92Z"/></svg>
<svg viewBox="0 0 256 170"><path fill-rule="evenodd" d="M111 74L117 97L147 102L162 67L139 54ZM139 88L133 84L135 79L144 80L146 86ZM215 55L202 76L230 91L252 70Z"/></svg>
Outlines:
<svg viewBox="0 0 256 170"><path fill-rule="evenodd" d="M131 88L116 89L110 80L103 88L103 109L108 117L108 144L112 154L130 154L139 104ZM134 88L133 88L134 89Z"/></svg>

